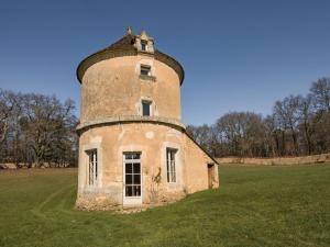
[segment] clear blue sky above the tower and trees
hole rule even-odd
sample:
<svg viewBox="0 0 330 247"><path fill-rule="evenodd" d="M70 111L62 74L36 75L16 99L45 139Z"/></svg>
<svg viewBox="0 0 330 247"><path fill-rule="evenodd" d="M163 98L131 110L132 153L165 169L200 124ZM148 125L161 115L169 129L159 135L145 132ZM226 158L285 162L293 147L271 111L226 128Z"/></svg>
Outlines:
<svg viewBox="0 0 330 247"><path fill-rule="evenodd" d="M76 67L132 25L185 68L183 121L272 112L330 76L330 1L0 1L0 88L80 104Z"/></svg>

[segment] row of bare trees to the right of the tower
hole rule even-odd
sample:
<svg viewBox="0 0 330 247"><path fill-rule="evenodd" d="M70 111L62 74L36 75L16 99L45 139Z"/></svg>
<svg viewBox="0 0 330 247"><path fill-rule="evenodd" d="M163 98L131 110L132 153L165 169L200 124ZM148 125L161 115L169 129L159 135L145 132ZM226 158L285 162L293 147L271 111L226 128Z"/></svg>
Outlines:
<svg viewBox="0 0 330 247"><path fill-rule="evenodd" d="M215 157L280 157L330 151L330 78L311 83L307 96L288 96L273 112L229 112L215 124L187 126Z"/></svg>

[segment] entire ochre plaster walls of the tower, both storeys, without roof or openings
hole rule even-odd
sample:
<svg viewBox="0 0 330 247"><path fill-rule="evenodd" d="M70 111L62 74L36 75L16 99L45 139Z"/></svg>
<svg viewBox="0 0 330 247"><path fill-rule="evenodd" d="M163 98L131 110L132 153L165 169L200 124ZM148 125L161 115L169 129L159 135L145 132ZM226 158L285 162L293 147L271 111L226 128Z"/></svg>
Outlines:
<svg viewBox="0 0 330 247"><path fill-rule="evenodd" d="M141 76L141 65L151 68L150 75ZM215 161L185 133L180 79L168 64L142 53L101 60L86 70L78 126L77 207L107 209L123 203L123 154L128 151L141 153L144 205L172 202L209 188L208 164ZM152 102L151 116L142 116L142 101ZM175 182L167 181L166 148L176 149ZM94 186L87 182L90 150L97 150ZM157 182L155 178L160 178ZM215 187L218 184L217 167Z"/></svg>

